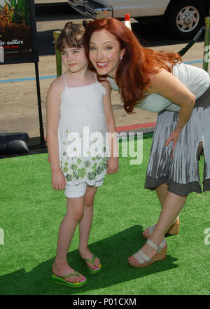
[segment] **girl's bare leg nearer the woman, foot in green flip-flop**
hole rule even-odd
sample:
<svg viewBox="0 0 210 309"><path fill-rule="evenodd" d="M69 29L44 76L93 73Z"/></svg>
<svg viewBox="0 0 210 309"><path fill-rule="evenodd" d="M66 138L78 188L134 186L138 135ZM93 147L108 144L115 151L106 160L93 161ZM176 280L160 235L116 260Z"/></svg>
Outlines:
<svg viewBox="0 0 210 309"><path fill-rule="evenodd" d="M92 253L88 249L87 244L90 236L90 228L92 225L94 196L96 193L97 187L87 186L84 202L84 215L83 219L80 221L80 244L78 248L82 259L92 259ZM99 266L99 263L99 259L96 258L94 261L94 266L90 263L87 263L87 266L94 270Z"/></svg>

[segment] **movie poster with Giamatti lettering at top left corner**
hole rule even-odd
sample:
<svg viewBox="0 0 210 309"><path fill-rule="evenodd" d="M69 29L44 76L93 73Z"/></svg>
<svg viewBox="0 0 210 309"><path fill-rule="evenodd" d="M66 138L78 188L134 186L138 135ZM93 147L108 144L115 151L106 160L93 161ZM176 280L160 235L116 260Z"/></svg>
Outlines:
<svg viewBox="0 0 210 309"><path fill-rule="evenodd" d="M34 62L34 0L0 0L0 63Z"/></svg>

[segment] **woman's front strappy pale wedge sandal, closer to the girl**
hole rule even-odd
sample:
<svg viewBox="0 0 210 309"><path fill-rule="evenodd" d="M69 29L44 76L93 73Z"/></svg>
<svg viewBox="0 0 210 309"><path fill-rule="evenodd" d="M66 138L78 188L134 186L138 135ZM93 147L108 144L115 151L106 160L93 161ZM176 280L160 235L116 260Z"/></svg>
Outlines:
<svg viewBox="0 0 210 309"><path fill-rule="evenodd" d="M155 263L156 261L162 261L166 258L167 256L167 242L166 240L163 240L160 245L155 244L152 240L148 239L146 244L150 245L153 247L153 249L157 250L157 253L153 258L149 258L141 249L133 254L134 258L139 262L137 263L132 263L131 261L128 261L130 266L132 267L146 267L151 265L152 263Z"/></svg>

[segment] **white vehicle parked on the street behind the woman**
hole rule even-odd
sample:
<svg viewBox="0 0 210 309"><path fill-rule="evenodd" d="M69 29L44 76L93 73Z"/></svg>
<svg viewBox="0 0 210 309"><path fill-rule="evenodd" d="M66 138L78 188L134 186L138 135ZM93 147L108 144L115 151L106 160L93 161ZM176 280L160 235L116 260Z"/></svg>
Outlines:
<svg viewBox="0 0 210 309"><path fill-rule="evenodd" d="M93 19L123 19L126 13L136 20L162 18L179 39L193 38L209 13L209 0L69 0L68 3Z"/></svg>

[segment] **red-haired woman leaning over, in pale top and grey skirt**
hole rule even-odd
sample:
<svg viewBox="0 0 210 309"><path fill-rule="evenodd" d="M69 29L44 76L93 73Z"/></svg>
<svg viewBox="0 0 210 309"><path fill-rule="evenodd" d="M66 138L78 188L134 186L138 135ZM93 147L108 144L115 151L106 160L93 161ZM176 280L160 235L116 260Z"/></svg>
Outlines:
<svg viewBox="0 0 210 309"><path fill-rule="evenodd" d="M183 64L177 53L144 48L115 18L94 20L85 29L90 68L118 90L123 107L158 112L145 188L158 194L162 211L148 238L128 262L145 267L165 259L165 234L179 232L179 212L189 193L202 193L198 150L203 144L204 191L210 190L210 78L203 69ZM100 77L101 76L101 77Z"/></svg>

